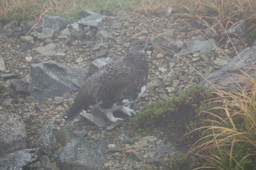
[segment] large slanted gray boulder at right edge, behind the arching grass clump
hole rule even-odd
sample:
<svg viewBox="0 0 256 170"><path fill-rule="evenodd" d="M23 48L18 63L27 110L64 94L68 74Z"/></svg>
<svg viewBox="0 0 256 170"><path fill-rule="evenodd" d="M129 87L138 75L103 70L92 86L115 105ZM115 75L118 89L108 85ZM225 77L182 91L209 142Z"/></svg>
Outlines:
<svg viewBox="0 0 256 170"><path fill-rule="evenodd" d="M206 76L206 79L209 80L212 84L217 85L221 83L222 87L234 88L236 84L228 84L225 81L238 78L236 75L233 74L240 74L243 75L238 69L245 71L252 77L255 77L256 71L246 67L253 67L254 61L256 58L256 46L248 47L244 49L239 55L236 55L231 62L223 66L220 70L214 71ZM246 70L245 70L246 69ZM234 80L235 81L235 80ZM239 81L239 80L236 80ZM204 84L206 87L210 87L210 84L206 82L206 80L202 80L200 84Z"/></svg>

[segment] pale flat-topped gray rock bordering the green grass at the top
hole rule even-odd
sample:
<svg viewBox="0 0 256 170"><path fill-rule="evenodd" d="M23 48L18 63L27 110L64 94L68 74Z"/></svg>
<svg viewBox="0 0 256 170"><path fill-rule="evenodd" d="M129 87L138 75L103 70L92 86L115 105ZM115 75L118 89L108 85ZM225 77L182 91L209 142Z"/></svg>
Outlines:
<svg viewBox="0 0 256 170"><path fill-rule="evenodd" d="M90 15L86 18L82 18L78 20L77 23L83 26L90 26L98 29L99 27L102 27L102 26L108 26L109 21L107 16Z"/></svg>

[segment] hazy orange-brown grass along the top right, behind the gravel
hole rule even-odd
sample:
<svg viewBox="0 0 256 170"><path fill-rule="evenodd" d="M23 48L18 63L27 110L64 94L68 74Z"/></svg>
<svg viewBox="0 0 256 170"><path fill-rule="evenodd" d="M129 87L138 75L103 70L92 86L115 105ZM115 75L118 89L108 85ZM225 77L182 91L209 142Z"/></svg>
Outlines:
<svg viewBox="0 0 256 170"><path fill-rule="evenodd" d="M182 20L192 19L202 23L217 35L228 31L240 20L246 20L249 23L247 31L253 30L256 34L255 0L142 0L142 6L132 14L155 14L168 8L176 10L176 15ZM224 26L220 27L219 23Z"/></svg>

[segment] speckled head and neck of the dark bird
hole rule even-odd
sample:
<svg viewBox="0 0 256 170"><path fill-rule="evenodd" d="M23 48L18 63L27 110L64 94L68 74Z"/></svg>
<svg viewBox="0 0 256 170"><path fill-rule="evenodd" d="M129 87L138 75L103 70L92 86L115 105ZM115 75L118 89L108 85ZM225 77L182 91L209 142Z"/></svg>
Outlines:
<svg viewBox="0 0 256 170"><path fill-rule="evenodd" d="M145 60L145 50L152 46L152 43L144 39L136 39L128 47L126 57L131 57L136 60Z"/></svg>

